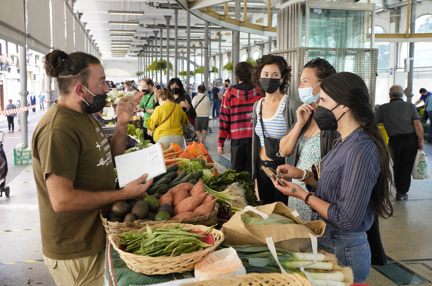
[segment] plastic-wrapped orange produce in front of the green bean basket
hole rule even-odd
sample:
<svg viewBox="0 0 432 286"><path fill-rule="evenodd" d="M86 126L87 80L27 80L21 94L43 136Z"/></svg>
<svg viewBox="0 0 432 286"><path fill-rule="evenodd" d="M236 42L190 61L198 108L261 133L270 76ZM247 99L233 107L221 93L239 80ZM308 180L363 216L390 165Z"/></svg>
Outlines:
<svg viewBox="0 0 432 286"><path fill-rule="evenodd" d="M245 274L246 269L232 247L215 251L195 264L195 279L198 281L232 278Z"/></svg>

